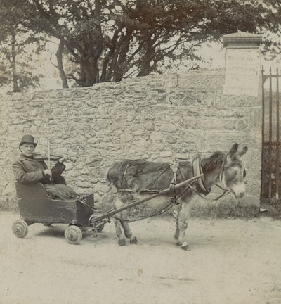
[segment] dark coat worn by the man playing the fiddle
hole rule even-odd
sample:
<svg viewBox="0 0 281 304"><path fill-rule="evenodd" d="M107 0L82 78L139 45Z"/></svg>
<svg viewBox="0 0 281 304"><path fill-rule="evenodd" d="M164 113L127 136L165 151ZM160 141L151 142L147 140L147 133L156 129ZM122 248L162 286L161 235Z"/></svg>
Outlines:
<svg viewBox="0 0 281 304"><path fill-rule="evenodd" d="M42 184L65 184L65 180L60 175L65 170L63 163L57 162L51 168L53 174L53 181L50 177L44 175L44 170L47 169L44 160L37 160L32 157L21 155L18 160L13 163L13 174L17 182L21 184L32 184L34 182L41 182Z"/></svg>

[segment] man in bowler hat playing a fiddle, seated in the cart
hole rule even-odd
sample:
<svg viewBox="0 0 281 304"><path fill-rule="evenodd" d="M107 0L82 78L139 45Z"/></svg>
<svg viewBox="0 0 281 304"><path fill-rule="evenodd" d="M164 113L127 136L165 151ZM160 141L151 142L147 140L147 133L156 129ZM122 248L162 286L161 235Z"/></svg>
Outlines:
<svg viewBox="0 0 281 304"><path fill-rule="evenodd" d="M79 195L61 176L65 170L63 162L65 157L59 158L51 169L48 168L43 158L36 158L34 150L37 144L32 135L23 135L20 141L20 158L13 163L13 173L17 182L21 184L32 184L40 182L44 184L48 196L53 199L77 199Z"/></svg>

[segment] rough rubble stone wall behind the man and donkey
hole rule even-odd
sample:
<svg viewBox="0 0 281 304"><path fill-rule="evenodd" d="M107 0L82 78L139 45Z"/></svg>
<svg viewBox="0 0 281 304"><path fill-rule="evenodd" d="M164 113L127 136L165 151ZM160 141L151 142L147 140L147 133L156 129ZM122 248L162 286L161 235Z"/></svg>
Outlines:
<svg viewBox="0 0 281 304"><path fill-rule="evenodd" d="M38 139L37 151L70 154L64 176L97 201L112 198L110 165L125 158L166 160L228 151L244 156L248 195L259 200L261 99L223 95L223 70L152 75L84 89L1 96L1 201L15 198L11 164L22 134Z"/></svg>

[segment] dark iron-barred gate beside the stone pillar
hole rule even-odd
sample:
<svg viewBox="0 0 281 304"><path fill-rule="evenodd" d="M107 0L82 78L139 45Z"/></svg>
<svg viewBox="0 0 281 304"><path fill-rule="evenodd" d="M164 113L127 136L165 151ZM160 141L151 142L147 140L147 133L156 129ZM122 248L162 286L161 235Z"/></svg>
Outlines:
<svg viewBox="0 0 281 304"><path fill-rule="evenodd" d="M280 72L262 72L262 171L261 202L281 202Z"/></svg>

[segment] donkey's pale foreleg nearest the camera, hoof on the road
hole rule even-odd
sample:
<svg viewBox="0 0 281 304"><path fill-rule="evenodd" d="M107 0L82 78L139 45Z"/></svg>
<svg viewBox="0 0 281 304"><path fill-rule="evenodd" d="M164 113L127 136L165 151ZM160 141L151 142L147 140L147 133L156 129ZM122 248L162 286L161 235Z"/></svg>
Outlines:
<svg viewBox="0 0 281 304"><path fill-rule="evenodd" d="M186 241L186 230L188 229L188 220L191 210L190 202L181 203L181 210L178 213L178 240L177 244L184 250L189 250L188 241Z"/></svg>

